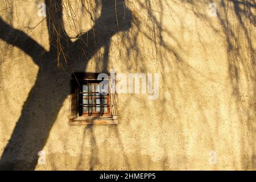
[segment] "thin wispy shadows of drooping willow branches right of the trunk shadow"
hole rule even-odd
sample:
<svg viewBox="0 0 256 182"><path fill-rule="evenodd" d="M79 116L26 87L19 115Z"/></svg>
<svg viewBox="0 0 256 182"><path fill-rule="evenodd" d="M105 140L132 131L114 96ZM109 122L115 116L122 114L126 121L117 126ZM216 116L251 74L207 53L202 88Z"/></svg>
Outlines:
<svg viewBox="0 0 256 182"><path fill-rule="evenodd" d="M130 1L127 1L127 3L129 3ZM212 1L207 1L207 0L201 0L201 1L192 1L192 0L187 0L187 1L177 1L177 0L173 0L172 3L177 3L177 4L181 4L181 3L186 3L187 7L191 8L191 10L193 11L193 13L196 15L197 18L200 18L200 20L203 20L205 22L205 24L208 25L208 27L212 28L213 30L216 29L216 27L211 24L211 22L209 21L208 16L205 14L205 11L201 10L200 7L201 5L205 5L205 7L208 7L208 4L212 2ZM180 43L179 39L172 34L172 32L168 31L167 28L164 28L164 23L163 23L163 19L164 16L166 16L166 9L170 10L170 18L172 18L172 14L177 13L175 9L172 9L171 6L169 6L168 1L162 1L162 0L156 0L156 1L150 1L150 0L146 0L146 1L137 1L137 6L133 6L133 10L135 10L135 14L136 16L135 18L135 26L133 27L133 29L130 31L130 34L127 35L128 38L124 39L123 35L122 40L123 41L123 45L126 49L125 52L120 51L120 57L124 58L121 60L125 60L123 61L123 67L126 68L126 71L129 72L147 72L147 65L144 64L145 59L147 59L148 57L145 57L145 53L147 52L147 49L144 49L143 45L141 44L141 42L146 42L146 43L151 43L152 47L150 49L150 53L152 53L151 58L154 57L154 62L156 63L156 72L159 72L162 77L162 82L168 82L166 80L166 76L168 75L168 72L165 72L164 67L173 67L173 68L177 68L177 71L172 73L171 77L175 78L175 80L179 80L179 75L178 73L181 73L187 80L192 80L193 82L196 81L196 77L193 76L193 71L191 71L191 67L189 67L189 65L187 65L187 63L183 60L183 56L181 55L181 52L183 52L183 48L182 48L182 43ZM156 6L157 5L157 6ZM253 46L251 45L251 36L250 34L253 34L253 30L255 28L255 16L253 13L252 8L255 7L255 2L254 1L221 1L221 7L218 7L218 10L223 10L224 11L224 15L223 14L219 14L218 15L218 20L220 23L220 26L222 28L222 30L224 30L224 39L226 40L226 45L227 47L227 55L229 55L228 57L228 67L229 67L229 79L230 79L230 83L233 87L233 92L234 92L234 96L237 98L237 102L236 104L238 105L238 107L246 107L244 105L242 105L242 102L240 100L240 95L242 92L242 88L244 88L244 85L241 85L241 77L243 75L243 73L240 72L241 67L240 67L240 61L242 63L242 61L245 59L250 60L250 63L244 63L245 67L246 67L246 77L249 78L254 78L255 77L255 61L254 61L254 57L255 57L255 50L253 48ZM139 7L138 7L139 6ZM154 7L154 9L152 8ZM155 7L158 7L158 9L156 10ZM141 10L140 12L136 11L137 9ZM142 15L144 13L144 15ZM234 16L229 16L229 14L234 14ZM177 16L177 15L176 15ZM179 19L180 20L180 19ZM236 22L236 20L238 20L238 22ZM236 22L236 23L235 23ZM238 29L234 29L234 27L237 27ZM243 32L243 34L245 34L245 39L243 39L240 35L240 32ZM198 30L200 31L200 30ZM216 33L220 33L221 32L217 32ZM163 38L165 36L165 38ZM170 42L167 42L166 40L170 39L173 42L175 42L176 46L172 46L170 44ZM114 44L114 43L113 43ZM246 44L246 46L245 46ZM117 46L118 47L118 46ZM242 53L243 50L245 50L245 47L248 47L248 51L245 53ZM240 52L240 53L239 53ZM168 56L172 56L171 59ZM126 61L126 60L130 60L130 61ZM166 62L163 63L163 60L168 60ZM187 69L185 69L187 68ZM237 71L236 71L237 70ZM204 75L201 75L204 76ZM164 85L165 88L167 90L170 91L170 93L174 93L174 88L172 88L172 85ZM196 85L194 86L196 87ZM177 90L177 92L182 93L183 92L183 88L177 86L177 88L175 88L175 90ZM197 88L195 88L195 90L197 90ZM197 90L197 94L200 94L200 90ZM193 93L191 93L193 94ZM184 98L185 99L185 98ZM251 101L254 101L255 98L254 97L250 97ZM137 100L137 102L140 101L140 97L138 96L133 96L133 100ZM133 106L133 104L131 104L133 102L133 100L131 100L129 97L128 99L125 101L125 105L130 105ZM180 112L179 112L179 104L176 103L176 98L175 96L173 96L171 98L172 102L171 102L171 106L170 106L170 102L166 102L168 101L168 95L164 94L164 96L158 100L158 102L155 104L155 107L161 107L163 110L168 110L173 109L176 117L182 118ZM143 102L140 103L141 107L143 108L150 108L150 104L148 104L147 102ZM216 110L219 108L216 108ZM121 107L120 110L125 110L125 107ZM199 108L199 112L201 114L201 117L203 118L203 121L205 122L209 122L208 118L206 117L205 113L204 113L204 108ZM247 114L247 117L245 120L246 122L243 123L242 121L242 112L245 111ZM170 127L170 125L175 125L177 126L177 128L180 128L181 130L183 129L182 123L170 123L170 125L168 125L167 123L161 122L161 121L168 121L168 117L165 117L165 115L163 115L161 113L161 111L153 111L154 115L159 115L160 116L160 123L158 123L158 126L160 127L160 129L164 129L166 126ZM251 133L251 135L253 135L253 132L255 131L255 127L253 125L253 123L249 120L250 117L253 117L253 115L250 115L248 112L248 109L246 108L237 108L237 112L238 115L240 116L240 122L242 124L242 132L240 134L240 138L242 139L246 139L245 137L242 136L242 134L245 131L249 131ZM241 113L240 113L241 112ZM130 118L129 117L130 113L121 113L123 118ZM218 118L218 117L216 117ZM221 118L218 118L221 119ZM126 129L129 128L129 121L127 121L126 123L122 123L122 125L125 125ZM206 125L210 126L209 123L206 123ZM139 130L143 130L144 128L147 127L147 123L143 123L143 125L140 126L141 128L139 128ZM113 137L113 134L116 135L115 138L118 138L118 146L120 148L121 154L123 154L122 156L120 156L120 158L123 158L123 161L125 163L126 169L134 169L136 168L136 165L134 165L133 163L130 162L129 156L125 155L125 146L123 146L123 139L121 135L119 135L119 133L122 133L122 129L119 126L107 126L106 128L108 128L108 137ZM220 129L220 126L218 126L217 123L217 128ZM234 131L234 130L233 130ZM170 132L170 131L167 131ZM157 133L159 136L163 136L162 132L159 131L159 133ZM77 169L94 169L98 164L98 153L100 151L100 148L97 147L97 138L94 136L95 132L94 132L94 127L87 127L84 130L84 134L83 137L85 137L85 135L90 135L92 140L91 140L91 144L90 144L90 156L89 156L89 168L86 168L84 166L84 156L83 156L83 152L84 152L84 146L81 146L81 154L79 156L79 163L77 163L76 168ZM137 141L137 151L141 152L142 147L141 147L141 143L143 142L142 140L140 140L140 136L136 135L136 138L138 139ZM160 146L163 148L163 150L166 152L168 145L170 145L170 143L164 141L164 139L162 137L159 137L160 139ZM180 140L185 140L185 137L181 136L177 136L177 138L179 138ZM216 147L214 146L214 138L216 138L216 136L214 135L210 135L210 140L211 140L211 147ZM241 156L242 157L242 167L243 168L254 168L255 164L254 164L254 158L255 156L251 155L251 154L255 154L254 151L254 140L250 141L250 145L251 150L253 150L253 152L251 152L249 154L249 157L245 156ZM246 143L246 141L245 141ZM179 143L181 146L181 148L183 148L183 150L181 151L181 156L186 156L186 152L187 152L187 146L185 143L181 142ZM236 147L237 143L234 143L232 145L232 147ZM242 146L243 149L243 143L239 143L240 146ZM108 148L107 146L105 148ZM107 149L106 149L107 150ZM242 153L242 151L241 151ZM168 154L165 153L164 154L166 156L166 158L168 158ZM86 157L85 157L86 158ZM109 160L109 166L115 166L115 158L110 155L109 156L110 160ZM142 169L143 165L145 163L145 161L142 160L142 156L141 155L136 155L135 156L136 162L137 162L137 168L136 169ZM179 163L187 163L188 159L183 159L184 161L179 161ZM237 161L237 159L234 159L234 161ZM112 163L113 162L113 163ZM129 163L130 162L130 163ZM148 166L150 165L154 165L154 163L150 163L150 159L148 160ZM112 164L111 164L112 163ZM163 161L161 163L161 169L168 169L166 166L166 161ZM230 164L232 165L232 164ZM238 166L240 167L240 166ZM236 165L234 165L234 168L236 168ZM113 167L113 169L116 169ZM145 169L145 168L143 168ZM169 168L170 169L170 168Z"/></svg>

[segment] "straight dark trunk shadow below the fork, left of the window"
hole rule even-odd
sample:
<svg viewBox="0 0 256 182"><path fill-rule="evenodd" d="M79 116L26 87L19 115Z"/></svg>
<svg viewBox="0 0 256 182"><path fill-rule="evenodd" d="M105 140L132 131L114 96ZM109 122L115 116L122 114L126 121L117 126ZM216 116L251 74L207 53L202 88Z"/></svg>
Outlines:
<svg viewBox="0 0 256 182"><path fill-rule="evenodd" d="M38 152L46 144L53 121L69 94L67 80L67 73L39 71L36 83L3 151L1 169L35 168Z"/></svg>

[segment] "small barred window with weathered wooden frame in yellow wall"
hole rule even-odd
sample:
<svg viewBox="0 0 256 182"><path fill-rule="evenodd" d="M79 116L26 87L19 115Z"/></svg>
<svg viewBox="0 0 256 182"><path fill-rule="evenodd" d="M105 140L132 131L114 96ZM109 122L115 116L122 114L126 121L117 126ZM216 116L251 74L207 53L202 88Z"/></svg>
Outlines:
<svg viewBox="0 0 256 182"><path fill-rule="evenodd" d="M117 96L110 93L108 78L97 80L100 73L73 73L71 80L72 125L117 124Z"/></svg>

